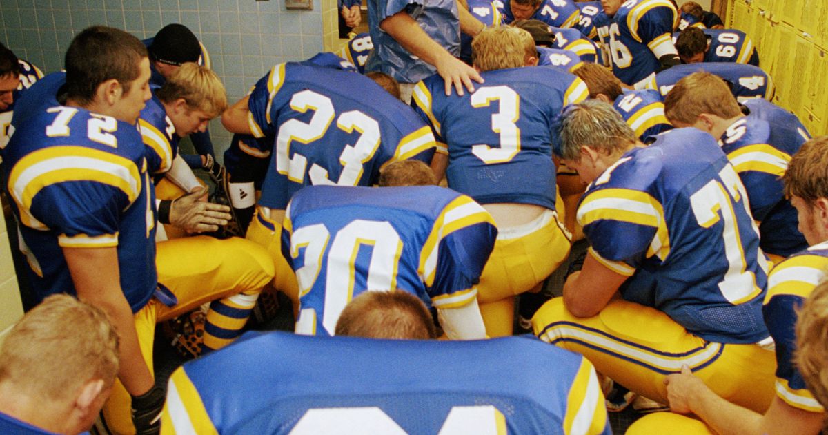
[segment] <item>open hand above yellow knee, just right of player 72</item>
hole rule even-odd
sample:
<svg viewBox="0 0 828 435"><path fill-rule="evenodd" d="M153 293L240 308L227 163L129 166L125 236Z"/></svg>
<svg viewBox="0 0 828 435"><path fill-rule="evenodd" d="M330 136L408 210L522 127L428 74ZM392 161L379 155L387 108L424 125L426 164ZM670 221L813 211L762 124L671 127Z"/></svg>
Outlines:
<svg viewBox="0 0 828 435"><path fill-rule="evenodd" d="M192 192L172 203L170 223L190 233L204 233L219 230L233 219L230 207L199 201L205 195L205 187L197 187Z"/></svg>

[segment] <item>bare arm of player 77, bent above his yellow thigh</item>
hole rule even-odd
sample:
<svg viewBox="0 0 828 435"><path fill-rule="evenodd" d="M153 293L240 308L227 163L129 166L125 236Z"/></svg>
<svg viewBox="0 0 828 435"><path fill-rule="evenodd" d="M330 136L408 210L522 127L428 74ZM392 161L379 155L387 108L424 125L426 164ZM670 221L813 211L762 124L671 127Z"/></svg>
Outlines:
<svg viewBox="0 0 828 435"><path fill-rule="evenodd" d="M584 268L564 283L564 306L575 317L593 317L607 306L627 279L587 254Z"/></svg>

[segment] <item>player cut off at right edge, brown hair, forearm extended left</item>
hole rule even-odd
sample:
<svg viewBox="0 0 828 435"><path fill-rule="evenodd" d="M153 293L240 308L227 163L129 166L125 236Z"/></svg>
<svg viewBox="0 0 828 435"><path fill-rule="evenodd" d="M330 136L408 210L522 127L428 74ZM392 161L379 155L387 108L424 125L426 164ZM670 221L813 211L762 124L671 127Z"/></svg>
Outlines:
<svg viewBox="0 0 828 435"><path fill-rule="evenodd" d="M785 193L792 198L800 215L800 228L811 246L777 264L768 277L768 295L763 313L768 331L776 343L776 396L770 408L760 414L729 403L705 383L682 370L667 376L667 398L677 413L695 413L715 433L820 433L825 408L806 389L821 385L825 361L799 355L797 348L824 346L825 330L811 317L825 312L800 313L802 302L816 297L817 284L825 282L828 272L828 137L811 139L795 154L783 176ZM824 294L824 292L823 292ZM808 317L801 329L817 331L801 334L797 343L794 325L797 317ZM804 362L804 364L802 364ZM817 364L815 365L814 362ZM815 389L819 392L820 389ZM692 424L692 423L686 423ZM672 426L671 429L675 429Z"/></svg>

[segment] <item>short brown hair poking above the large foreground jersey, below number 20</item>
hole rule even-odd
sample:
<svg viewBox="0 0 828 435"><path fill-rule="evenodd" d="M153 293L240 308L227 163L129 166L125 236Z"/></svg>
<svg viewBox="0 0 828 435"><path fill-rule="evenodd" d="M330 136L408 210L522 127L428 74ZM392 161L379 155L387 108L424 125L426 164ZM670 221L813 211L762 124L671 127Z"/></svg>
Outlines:
<svg viewBox="0 0 828 435"><path fill-rule="evenodd" d="M354 297L339 315L335 335L428 340L437 333L426 305L412 293L397 289Z"/></svg>

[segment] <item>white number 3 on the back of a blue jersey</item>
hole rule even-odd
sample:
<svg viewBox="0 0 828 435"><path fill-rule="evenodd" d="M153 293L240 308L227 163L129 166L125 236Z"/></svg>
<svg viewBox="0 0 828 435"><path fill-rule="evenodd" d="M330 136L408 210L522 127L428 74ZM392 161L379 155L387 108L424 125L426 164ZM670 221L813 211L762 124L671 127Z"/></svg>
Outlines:
<svg viewBox="0 0 828 435"><path fill-rule="evenodd" d="M500 112L492 114L492 131L500 135L500 147L479 144L471 152L486 164L508 162L520 151L520 128L515 124L520 117L520 97L508 86L484 86L471 94L472 107L489 107L500 102Z"/></svg>

